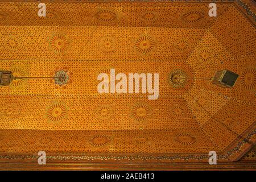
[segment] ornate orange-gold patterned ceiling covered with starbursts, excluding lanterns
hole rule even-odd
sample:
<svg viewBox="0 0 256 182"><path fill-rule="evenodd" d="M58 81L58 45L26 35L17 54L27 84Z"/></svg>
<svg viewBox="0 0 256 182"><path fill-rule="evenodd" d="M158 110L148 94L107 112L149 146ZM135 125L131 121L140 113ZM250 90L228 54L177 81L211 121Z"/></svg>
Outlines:
<svg viewBox="0 0 256 182"><path fill-rule="evenodd" d="M0 69L21 77L65 71L69 80L0 87L0 167L36 166L43 150L50 167L208 168L216 151L225 167L255 168L255 149L245 155L256 140L253 2L216 1L217 17L209 1L44 2L46 17L38 1L0 2ZM110 68L159 73L158 100L98 93L97 75ZM221 69L240 75L233 88L170 81L175 71L212 77Z"/></svg>

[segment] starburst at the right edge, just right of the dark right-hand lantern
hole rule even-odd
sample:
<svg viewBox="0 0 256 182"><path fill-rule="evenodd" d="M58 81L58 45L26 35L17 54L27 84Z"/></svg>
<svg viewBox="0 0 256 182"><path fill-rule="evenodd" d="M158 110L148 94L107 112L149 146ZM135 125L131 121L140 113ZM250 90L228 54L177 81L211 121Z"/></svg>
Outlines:
<svg viewBox="0 0 256 182"><path fill-rule="evenodd" d="M256 70L255 68L246 68L241 75L241 85L247 89L255 89L256 86Z"/></svg>

